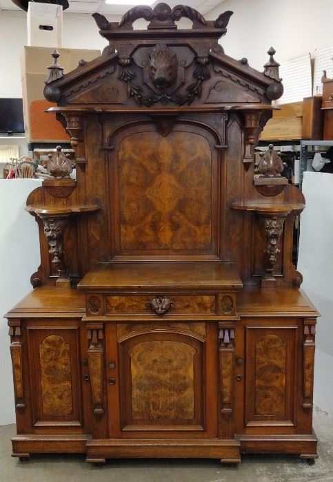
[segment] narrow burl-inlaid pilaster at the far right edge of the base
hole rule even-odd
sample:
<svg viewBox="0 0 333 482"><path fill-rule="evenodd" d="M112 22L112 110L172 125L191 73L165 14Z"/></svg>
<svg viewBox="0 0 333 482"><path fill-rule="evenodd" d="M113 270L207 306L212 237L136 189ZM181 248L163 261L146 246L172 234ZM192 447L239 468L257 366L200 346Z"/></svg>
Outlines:
<svg viewBox="0 0 333 482"><path fill-rule="evenodd" d="M303 339L303 404L304 410L312 408L313 379L314 379L314 350L316 335L316 319L308 318L304 321Z"/></svg>

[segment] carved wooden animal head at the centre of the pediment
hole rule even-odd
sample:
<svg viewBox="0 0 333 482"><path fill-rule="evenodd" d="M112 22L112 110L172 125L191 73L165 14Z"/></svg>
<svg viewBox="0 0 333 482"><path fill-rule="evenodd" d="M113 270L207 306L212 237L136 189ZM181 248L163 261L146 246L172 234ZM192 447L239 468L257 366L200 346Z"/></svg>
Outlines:
<svg viewBox="0 0 333 482"><path fill-rule="evenodd" d="M155 45L149 60L149 76L154 85L165 89L176 82L177 56L172 55L165 43Z"/></svg>

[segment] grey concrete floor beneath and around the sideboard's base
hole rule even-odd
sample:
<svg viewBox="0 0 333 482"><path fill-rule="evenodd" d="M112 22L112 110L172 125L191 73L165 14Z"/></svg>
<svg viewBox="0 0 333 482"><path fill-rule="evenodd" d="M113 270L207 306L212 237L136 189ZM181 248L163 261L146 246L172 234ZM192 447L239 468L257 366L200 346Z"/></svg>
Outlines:
<svg viewBox="0 0 333 482"><path fill-rule="evenodd" d="M101 467L83 455L34 455L27 462L10 457L15 426L0 427L0 482L333 482L333 419L314 414L319 459L308 465L297 457L244 455L236 468L214 460L109 460Z"/></svg>

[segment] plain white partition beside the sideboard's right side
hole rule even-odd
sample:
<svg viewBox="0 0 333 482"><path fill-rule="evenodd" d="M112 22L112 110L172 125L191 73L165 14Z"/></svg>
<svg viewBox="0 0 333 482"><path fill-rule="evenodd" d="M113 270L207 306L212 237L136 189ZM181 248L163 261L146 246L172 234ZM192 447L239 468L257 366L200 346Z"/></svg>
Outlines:
<svg viewBox="0 0 333 482"><path fill-rule="evenodd" d="M333 415L333 175L305 172L299 263L302 289L321 313L316 330L314 403Z"/></svg>

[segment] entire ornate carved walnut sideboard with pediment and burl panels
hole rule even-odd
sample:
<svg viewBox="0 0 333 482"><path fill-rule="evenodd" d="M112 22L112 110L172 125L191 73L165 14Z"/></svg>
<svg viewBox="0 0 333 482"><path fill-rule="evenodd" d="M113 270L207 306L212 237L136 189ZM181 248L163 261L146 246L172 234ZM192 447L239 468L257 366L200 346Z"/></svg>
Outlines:
<svg viewBox="0 0 333 482"><path fill-rule="evenodd" d="M291 261L305 200L274 146L254 156L279 63L225 54L231 16L96 13L101 56L64 73L52 52L76 180L59 146L27 200L41 265L7 315L14 457L317 457L318 313Z"/></svg>

